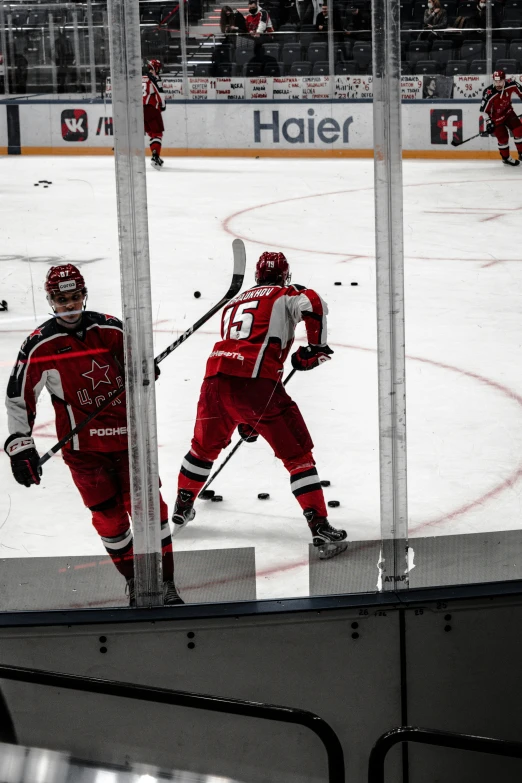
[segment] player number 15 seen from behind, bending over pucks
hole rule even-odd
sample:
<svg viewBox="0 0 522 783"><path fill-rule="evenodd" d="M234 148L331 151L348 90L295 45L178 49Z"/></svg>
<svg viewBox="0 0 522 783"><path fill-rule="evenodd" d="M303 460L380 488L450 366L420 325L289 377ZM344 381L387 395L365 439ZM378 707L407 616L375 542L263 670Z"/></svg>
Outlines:
<svg viewBox="0 0 522 783"><path fill-rule="evenodd" d="M262 435L283 461L313 544L321 558L330 558L346 549L346 532L328 523L312 439L299 408L281 383L299 321L304 321L309 345L292 354L292 366L312 370L330 359L328 308L311 288L290 285L290 269L282 253L263 253L255 279L257 285L239 294L223 311L222 339L207 361L194 437L178 478L173 534L194 518L196 495L237 426L247 442Z"/></svg>

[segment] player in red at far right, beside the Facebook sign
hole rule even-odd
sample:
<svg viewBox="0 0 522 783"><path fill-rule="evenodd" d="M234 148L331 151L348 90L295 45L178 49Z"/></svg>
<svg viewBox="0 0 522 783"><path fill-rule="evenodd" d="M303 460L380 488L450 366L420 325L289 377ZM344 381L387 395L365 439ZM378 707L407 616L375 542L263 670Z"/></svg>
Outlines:
<svg viewBox="0 0 522 783"><path fill-rule="evenodd" d="M498 141L498 151L502 163L506 166L518 166L522 155L522 123L515 114L512 99L518 95L522 98L522 86L514 79L506 80L506 74L502 70L493 74L493 84L486 87L482 93L480 111L485 112L489 120L481 136L493 135ZM509 131L513 131L515 147L518 151L518 159L509 154Z"/></svg>

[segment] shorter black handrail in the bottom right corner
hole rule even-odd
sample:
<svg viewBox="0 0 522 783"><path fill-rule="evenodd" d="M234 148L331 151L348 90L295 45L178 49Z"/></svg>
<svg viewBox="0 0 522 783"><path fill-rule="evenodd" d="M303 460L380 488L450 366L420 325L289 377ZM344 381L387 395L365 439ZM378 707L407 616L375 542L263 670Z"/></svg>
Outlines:
<svg viewBox="0 0 522 783"><path fill-rule="evenodd" d="M388 751L399 742L421 742L457 750L473 750L495 756L511 756L522 759L522 742L508 742L473 734L455 734L451 731L420 729L417 726L400 726L382 734L370 753L368 783L384 783L384 761Z"/></svg>

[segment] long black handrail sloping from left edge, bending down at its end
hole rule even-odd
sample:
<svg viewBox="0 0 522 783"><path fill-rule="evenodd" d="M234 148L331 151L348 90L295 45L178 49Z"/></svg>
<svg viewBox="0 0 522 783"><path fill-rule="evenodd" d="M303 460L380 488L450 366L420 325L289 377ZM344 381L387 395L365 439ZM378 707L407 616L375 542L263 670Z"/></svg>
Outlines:
<svg viewBox="0 0 522 783"><path fill-rule="evenodd" d="M243 715L282 723L295 723L313 731L323 743L328 758L329 783L344 783L345 780L344 754L337 734L326 721L307 710L241 699L224 699L220 696L208 696L187 691L173 691L168 688L151 688L148 685L102 680L98 677L81 677L76 674L27 669L22 666L0 665L0 679L69 688L87 693L101 693L105 696L120 696L139 701L152 701L157 704L193 707L211 712L226 712L230 715Z"/></svg>

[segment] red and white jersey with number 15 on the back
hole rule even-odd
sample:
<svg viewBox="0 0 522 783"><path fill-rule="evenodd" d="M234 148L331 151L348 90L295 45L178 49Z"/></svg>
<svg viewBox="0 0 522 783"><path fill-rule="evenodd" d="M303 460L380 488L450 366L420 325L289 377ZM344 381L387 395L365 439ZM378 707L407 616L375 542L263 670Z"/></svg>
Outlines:
<svg viewBox="0 0 522 783"><path fill-rule="evenodd" d="M319 294L299 285L258 285L223 310L221 340L210 354L205 378L223 373L278 380L304 321L308 342L324 345L328 307Z"/></svg>

